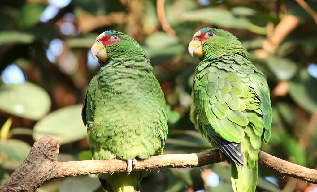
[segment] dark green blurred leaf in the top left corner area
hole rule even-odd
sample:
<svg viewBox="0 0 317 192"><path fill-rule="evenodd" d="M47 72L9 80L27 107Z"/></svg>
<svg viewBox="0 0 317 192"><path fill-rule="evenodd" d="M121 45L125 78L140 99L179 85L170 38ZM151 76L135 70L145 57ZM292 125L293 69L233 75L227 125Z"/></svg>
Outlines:
<svg viewBox="0 0 317 192"><path fill-rule="evenodd" d="M19 26L30 28L40 22L40 16L46 5L42 3L26 3L20 12Z"/></svg>

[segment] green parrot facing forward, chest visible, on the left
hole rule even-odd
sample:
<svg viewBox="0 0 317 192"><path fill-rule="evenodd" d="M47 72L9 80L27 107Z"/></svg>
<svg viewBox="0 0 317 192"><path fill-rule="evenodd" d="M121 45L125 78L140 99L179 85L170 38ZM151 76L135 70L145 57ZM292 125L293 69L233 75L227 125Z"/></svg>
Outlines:
<svg viewBox="0 0 317 192"><path fill-rule="evenodd" d="M119 31L100 34L91 48L100 71L82 108L92 159L122 159L127 174L99 174L108 192L139 191L149 171L132 171L135 158L163 154L168 133L164 94L139 43ZM131 173L130 173L131 172Z"/></svg>

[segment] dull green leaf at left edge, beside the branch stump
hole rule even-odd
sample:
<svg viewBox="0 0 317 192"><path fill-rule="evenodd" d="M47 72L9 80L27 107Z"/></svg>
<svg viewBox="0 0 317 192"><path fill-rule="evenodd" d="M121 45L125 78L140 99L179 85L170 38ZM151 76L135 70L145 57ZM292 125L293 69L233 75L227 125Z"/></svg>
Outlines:
<svg viewBox="0 0 317 192"><path fill-rule="evenodd" d="M28 156L31 146L17 139L0 140L0 161L3 167L15 170Z"/></svg>

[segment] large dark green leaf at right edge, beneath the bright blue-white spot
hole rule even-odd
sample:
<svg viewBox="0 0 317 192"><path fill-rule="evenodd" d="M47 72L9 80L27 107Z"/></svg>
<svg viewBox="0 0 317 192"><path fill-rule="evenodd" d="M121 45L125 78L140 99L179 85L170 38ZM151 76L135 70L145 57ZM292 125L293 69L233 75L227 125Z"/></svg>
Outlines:
<svg viewBox="0 0 317 192"><path fill-rule="evenodd" d="M317 111L317 79L301 69L288 84L290 96L298 105L309 112Z"/></svg>

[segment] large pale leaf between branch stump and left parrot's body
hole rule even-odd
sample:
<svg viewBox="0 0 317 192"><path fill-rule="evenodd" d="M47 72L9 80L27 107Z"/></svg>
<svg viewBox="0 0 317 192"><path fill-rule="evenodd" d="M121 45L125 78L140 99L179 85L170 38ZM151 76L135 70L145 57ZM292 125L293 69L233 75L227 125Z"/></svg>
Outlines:
<svg viewBox="0 0 317 192"><path fill-rule="evenodd" d="M64 107L41 119L34 126L34 140L49 135L58 139L59 144L65 144L85 138L87 130L81 120L81 106Z"/></svg>

